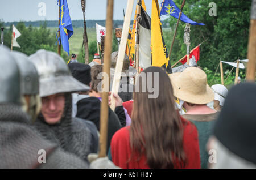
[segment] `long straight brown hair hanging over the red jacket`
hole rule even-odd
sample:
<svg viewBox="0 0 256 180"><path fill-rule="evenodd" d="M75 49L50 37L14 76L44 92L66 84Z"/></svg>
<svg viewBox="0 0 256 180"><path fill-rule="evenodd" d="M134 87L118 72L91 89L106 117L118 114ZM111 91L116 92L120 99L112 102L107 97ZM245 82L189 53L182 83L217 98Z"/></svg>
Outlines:
<svg viewBox="0 0 256 180"><path fill-rule="evenodd" d="M157 80L154 80L155 72L159 76ZM160 67L148 67L142 73L146 74L147 79L135 83L130 126L131 158L135 152L139 157L146 155L150 168L174 168L176 162L183 166L183 128L175 109L171 81ZM151 80L148 79L149 73L152 74ZM142 86L148 83L159 86L158 97L148 98L152 94L148 88L146 92L141 91ZM136 92L138 86L140 91Z"/></svg>

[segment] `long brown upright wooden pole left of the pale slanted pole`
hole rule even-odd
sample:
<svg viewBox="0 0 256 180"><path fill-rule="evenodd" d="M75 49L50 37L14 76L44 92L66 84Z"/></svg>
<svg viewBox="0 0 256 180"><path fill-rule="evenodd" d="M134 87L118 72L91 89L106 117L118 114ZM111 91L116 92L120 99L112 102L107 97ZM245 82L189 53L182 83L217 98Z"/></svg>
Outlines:
<svg viewBox="0 0 256 180"><path fill-rule="evenodd" d="M100 152L98 157L106 156L106 144L108 136L108 117L109 117L109 80L110 80L110 54L112 51L112 27L113 27L113 5L114 0L108 0L107 15L106 15L106 37L105 37L105 52L104 52L104 65L103 72L108 77L103 77L104 89L101 93L101 114L100 114Z"/></svg>

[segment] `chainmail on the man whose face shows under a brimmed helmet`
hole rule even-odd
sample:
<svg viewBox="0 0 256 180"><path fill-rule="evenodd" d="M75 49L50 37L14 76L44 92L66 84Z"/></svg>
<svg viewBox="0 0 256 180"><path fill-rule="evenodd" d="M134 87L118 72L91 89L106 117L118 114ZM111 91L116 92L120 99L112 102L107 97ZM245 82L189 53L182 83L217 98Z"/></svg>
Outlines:
<svg viewBox="0 0 256 180"><path fill-rule="evenodd" d="M65 151L74 153L87 161L92 137L89 128L84 123L78 121L76 118L72 120L71 93L65 93L63 114L60 123L48 125L42 113L40 113L35 122L35 127L46 139L58 144Z"/></svg>

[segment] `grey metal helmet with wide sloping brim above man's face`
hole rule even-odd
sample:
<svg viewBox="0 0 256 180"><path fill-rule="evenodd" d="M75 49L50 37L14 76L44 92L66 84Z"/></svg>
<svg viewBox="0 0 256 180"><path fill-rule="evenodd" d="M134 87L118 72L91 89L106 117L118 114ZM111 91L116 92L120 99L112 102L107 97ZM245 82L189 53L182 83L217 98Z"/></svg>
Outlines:
<svg viewBox="0 0 256 180"><path fill-rule="evenodd" d="M30 61L39 74L40 97L61 92L89 91L89 87L72 77L63 58L44 49L30 55Z"/></svg>

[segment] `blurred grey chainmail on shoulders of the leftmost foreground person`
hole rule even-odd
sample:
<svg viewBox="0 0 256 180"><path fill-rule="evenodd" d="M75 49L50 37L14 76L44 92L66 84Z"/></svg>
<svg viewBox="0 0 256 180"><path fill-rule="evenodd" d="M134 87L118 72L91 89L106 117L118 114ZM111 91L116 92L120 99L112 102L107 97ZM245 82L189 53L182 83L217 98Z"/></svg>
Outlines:
<svg viewBox="0 0 256 180"><path fill-rule="evenodd" d="M15 104L0 105L0 168L88 168L88 164L48 142L29 125L30 119ZM39 150L46 151L40 164Z"/></svg>

